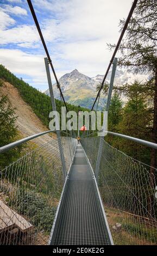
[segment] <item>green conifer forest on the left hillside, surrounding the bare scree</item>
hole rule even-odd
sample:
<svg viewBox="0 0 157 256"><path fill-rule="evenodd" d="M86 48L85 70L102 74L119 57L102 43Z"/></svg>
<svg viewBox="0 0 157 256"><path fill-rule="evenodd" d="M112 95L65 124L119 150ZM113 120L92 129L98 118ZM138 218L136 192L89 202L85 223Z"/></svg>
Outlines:
<svg viewBox="0 0 157 256"><path fill-rule="evenodd" d="M50 121L49 112L52 111L50 97L39 92L39 90L33 88L32 86L29 86L29 84L24 82L22 79L17 78L3 65L0 65L0 80L0 147L22 138L16 124L18 118L16 115L16 109L11 105L8 97L9 95L4 94L2 90L5 82L10 83L10 85L18 90L21 98L27 103L28 106L32 108L32 111L37 117L39 117L43 125L47 126L48 130L48 124ZM55 102L58 112L61 113L61 106L64 106L63 102L60 100L55 100ZM73 110L77 113L79 111L87 110L68 103L67 107L69 111ZM24 152L26 153L26 150L32 150L33 148L30 147L26 149L28 144L30 143L23 144L1 154L0 169L3 169L5 166L8 166L9 163L16 161L24 154ZM37 145L32 145L32 147L36 146Z"/></svg>

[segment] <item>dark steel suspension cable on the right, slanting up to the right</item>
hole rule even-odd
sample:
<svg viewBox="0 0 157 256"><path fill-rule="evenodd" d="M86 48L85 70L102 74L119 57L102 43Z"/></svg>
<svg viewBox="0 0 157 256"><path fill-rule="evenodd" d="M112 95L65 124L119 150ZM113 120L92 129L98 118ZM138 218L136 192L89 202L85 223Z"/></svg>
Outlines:
<svg viewBox="0 0 157 256"><path fill-rule="evenodd" d="M101 87L100 87L99 90L98 90L98 93L97 93L95 102L93 103L93 106L92 106L92 108L91 108L91 111L93 110L93 107L95 106L95 103L96 103L96 101L97 101L97 99L98 99L98 96L99 96L99 94L100 94L100 92L101 92L101 90L102 90L102 88L103 88L103 85L104 85L106 76L108 75L108 72L109 72L109 70L110 70L110 68L111 68L111 64L112 64L112 62L114 61L114 58L115 58L116 53L117 53L117 51L118 51L118 48L119 48L119 46L120 46L120 44L121 44L121 41L122 41L122 39L123 39L123 35L124 35L124 33L125 33L125 31L126 31L126 29L127 29L127 27L128 27L128 24L129 24L129 22L130 22L131 16L133 15L133 12L134 12L134 10L135 10L135 8L136 8L137 1L138 1L138 0L134 0L133 4L132 4L132 6L131 6L131 9L130 9L129 14L128 14L128 17L127 17L127 20L125 21L125 25L124 25L124 27L123 27L123 30L122 30L121 35L120 35L120 38L119 38L119 40L118 40L118 42L117 42L115 51L114 51L114 53L113 53L113 55L112 55L112 58L111 58L111 60L110 60L108 69L106 70L106 73L105 73L105 76L104 76L104 78L103 78Z"/></svg>

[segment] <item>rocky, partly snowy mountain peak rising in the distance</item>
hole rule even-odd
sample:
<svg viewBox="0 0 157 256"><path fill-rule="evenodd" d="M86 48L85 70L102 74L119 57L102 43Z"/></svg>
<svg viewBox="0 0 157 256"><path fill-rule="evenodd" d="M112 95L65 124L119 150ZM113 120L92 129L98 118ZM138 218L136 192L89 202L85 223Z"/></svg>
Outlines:
<svg viewBox="0 0 157 256"><path fill-rule="evenodd" d="M65 100L74 105L80 105L82 107L90 108L96 96L96 86L103 81L104 75L97 75L95 77L89 77L81 74L77 69L65 74L59 79L61 91L64 94ZM111 78L111 71L109 71L106 77L106 82L109 83ZM148 76L146 75L134 75L130 72L124 72L122 70L116 70L115 84L122 85L125 83L134 82L135 79L139 81L146 81ZM53 84L54 96L56 99L60 99L59 89L56 84ZM45 91L45 94L49 95L49 89ZM104 96L100 100L100 105L104 106Z"/></svg>

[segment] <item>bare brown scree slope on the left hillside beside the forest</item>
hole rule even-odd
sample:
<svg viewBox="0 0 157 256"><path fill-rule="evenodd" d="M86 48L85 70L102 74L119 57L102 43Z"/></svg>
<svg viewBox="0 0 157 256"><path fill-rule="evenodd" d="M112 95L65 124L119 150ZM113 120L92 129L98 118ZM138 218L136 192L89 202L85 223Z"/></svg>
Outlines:
<svg viewBox="0 0 157 256"><path fill-rule="evenodd" d="M16 125L23 138L36 133L47 131L47 127L42 124L41 120L34 114L32 108L23 101L18 90L8 82L4 82L2 93L7 94L12 107L15 107L15 113L18 116ZM55 137L55 135L53 135ZM49 135L44 135L32 141L41 145L51 139Z"/></svg>

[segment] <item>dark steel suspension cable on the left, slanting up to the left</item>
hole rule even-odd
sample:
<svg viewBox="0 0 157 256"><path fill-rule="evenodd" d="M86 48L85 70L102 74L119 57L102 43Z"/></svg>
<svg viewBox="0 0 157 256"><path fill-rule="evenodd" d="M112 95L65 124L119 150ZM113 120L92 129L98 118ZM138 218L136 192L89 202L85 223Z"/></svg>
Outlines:
<svg viewBox="0 0 157 256"><path fill-rule="evenodd" d="M38 31L38 33L39 33L39 35L40 35L40 39L41 39L41 41L42 41L43 48L45 49L45 52L46 52L46 55L47 55L47 58L48 58L48 62L49 62L49 64L51 65L51 69L52 69L52 71L53 71L53 75L54 75L54 77L55 77L55 81L56 81L57 87L58 87L59 90L60 90L60 94L61 94L62 100L64 101L65 107L66 107L66 109L67 109L64 96L63 96L63 94L62 94L62 92L61 92L61 89L60 89L60 84L59 84L58 78L56 77L55 70L54 70L54 68L53 68L52 60L51 60L51 58L50 58L50 56L49 56L49 52L48 52L48 50L47 50L47 46L46 46L45 40L44 40L43 35L42 35L42 32L41 32L41 28L40 28L39 22L37 21L37 17L36 17L34 8L33 8L33 4L32 4L32 2L31 2L31 0L27 0L27 3L28 3L28 5L29 5L29 9L30 9L30 11L31 11L31 13L32 13L32 16L33 16L33 19L34 19L34 22L35 22L37 31ZM68 109L67 109L67 111L68 111Z"/></svg>

